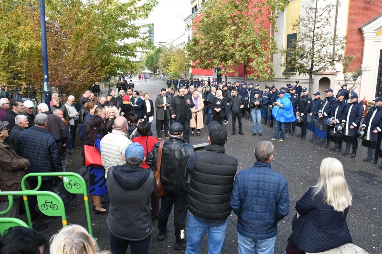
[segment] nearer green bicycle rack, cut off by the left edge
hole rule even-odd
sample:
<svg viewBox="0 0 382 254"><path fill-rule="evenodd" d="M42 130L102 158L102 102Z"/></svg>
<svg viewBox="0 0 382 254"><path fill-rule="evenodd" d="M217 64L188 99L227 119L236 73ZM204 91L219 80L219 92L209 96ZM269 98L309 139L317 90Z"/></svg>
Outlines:
<svg viewBox="0 0 382 254"><path fill-rule="evenodd" d="M9 211L11 211L11 208L13 206L13 196L19 196L19 195L24 196L24 201L27 200L26 195L37 196L37 201L39 203L40 211L43 214L48 215L48 216L61 216L62 225L64 227L67 226L68 223L66 222L64 203L62 202L62 199L56 193L53 193L51 191L30 191L30 190L28 190L28 191L1 191L0 196L8 196L9 206L5 211L0 212L0 215L7 214ZM29 214L28 205L26 207L26 211L28 211L28 214ZM31 217L29 216L27 218L28 218L29 228L33 228ZM3 219L14 219L14 218L2 218L1 223L3 223ZM6 222L6 220L5 220L5 222ZM13 222L15 222L15 220L13 220ZM21 226L28 227L28 225L26 225L24 222L23 222L23 224L24 225L21 225ZM16 225L20 225L20 224L16 223ZM6 228L6 229L8 229L8 228Z"/></svg>

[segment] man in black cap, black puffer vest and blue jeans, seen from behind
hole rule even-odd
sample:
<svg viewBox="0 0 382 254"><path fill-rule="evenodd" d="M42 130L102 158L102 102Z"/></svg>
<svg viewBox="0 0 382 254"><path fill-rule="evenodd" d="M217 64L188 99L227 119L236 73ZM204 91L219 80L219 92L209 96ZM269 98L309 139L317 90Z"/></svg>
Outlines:
<svg viewBox="0 0 382 254"><path fill-rule="evenodd" d="M231 213L229 202L238 161L225 154L227 130L217 121L211 121L208 130L206 152L193 153L188 160L191 180L186 254L199 253L207 231L208 253L220 253Z"/></svg>

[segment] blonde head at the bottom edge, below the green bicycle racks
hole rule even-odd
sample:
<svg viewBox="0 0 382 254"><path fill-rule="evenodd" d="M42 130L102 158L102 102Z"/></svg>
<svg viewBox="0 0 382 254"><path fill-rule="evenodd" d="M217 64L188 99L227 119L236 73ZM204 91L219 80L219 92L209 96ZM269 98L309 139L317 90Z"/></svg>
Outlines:
<svg viewBox="0 0 382 254"><path fill-rule="evenodd" d="M111 254L99 251L94 238L80 225L63 227L50 238L50 254Z"/></svg>

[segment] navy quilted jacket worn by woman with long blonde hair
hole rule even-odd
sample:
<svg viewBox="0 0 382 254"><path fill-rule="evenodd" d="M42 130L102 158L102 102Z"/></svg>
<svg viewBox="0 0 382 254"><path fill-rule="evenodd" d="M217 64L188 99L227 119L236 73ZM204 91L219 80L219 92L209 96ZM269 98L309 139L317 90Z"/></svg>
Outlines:
<svg viewBox="0 0 382 254"><path fill-rule="evenodd" d="M346 243L352 243L345 211L334 211L333 206L320 202L322 193L312 200L314 187L309 188L305 195L296 202L296 210L301 215L292 232L290 241L305 252L322 252L336 248Z"/></svg>

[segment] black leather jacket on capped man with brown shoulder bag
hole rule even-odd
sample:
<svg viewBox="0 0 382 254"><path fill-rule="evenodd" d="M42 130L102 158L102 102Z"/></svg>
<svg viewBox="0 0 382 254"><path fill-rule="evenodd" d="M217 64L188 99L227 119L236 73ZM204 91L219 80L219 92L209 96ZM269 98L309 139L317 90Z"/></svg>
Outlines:
<svg viewBox="0 0 382 254"><path fill-rule="evenodd" d="M160 142L154 145L146 158L147 165L154 172L157 170L159 144ZM186 144L182 138L170 137L169 140L165 141L160 164L160 181L162 185L188 191L190 179L187 162L193 152L194 147Z"/></svg>

